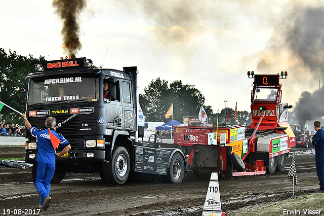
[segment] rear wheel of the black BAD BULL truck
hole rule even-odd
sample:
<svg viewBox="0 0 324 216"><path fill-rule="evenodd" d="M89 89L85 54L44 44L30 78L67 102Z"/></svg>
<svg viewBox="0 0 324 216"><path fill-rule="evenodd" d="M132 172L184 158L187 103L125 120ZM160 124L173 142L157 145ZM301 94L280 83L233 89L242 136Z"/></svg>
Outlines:
<svg viewBox="0 0 324 216"><path fill-rule="evenodd" d="M184 178L184 171L183 157L179 153L175 153L170 162L166 182L175 184L181 183Z"/></svg>

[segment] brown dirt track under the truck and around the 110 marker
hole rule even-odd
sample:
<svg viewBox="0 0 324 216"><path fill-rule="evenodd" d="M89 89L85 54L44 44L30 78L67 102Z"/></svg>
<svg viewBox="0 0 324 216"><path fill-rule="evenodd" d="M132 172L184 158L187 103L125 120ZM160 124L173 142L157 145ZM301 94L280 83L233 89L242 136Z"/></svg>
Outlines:
<svg viewBox="0 0 324 216"><path fill-rule="evenodd" d="M286 169L271 175L221 178L222 210L255 203L275 202L292 196ZM296 156L296 194L313 193L318 188L314 155ZM31 183L30 168L0 168L0 210L34 209L39 196ZM182 184L164 184L155 178L133 176L124 185L105 185L97 174L67 174L53 184L53 199L42 215L201 215L210 174L195 173ZM141 180L140 180L140 179Z"/></svg>

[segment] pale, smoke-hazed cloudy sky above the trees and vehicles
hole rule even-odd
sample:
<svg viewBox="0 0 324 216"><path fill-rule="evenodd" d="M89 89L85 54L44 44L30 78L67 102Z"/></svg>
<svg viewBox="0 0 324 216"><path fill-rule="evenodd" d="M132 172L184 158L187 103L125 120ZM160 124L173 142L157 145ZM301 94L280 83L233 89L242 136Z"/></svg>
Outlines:
<svg viewBox="0 0 324 216"><path fill-rule="evenodd" d="M67 55L52 1L3 0L0 10L0 47L7 53ZM158 77L194 85L214 113L224 100L251 112L247 71L288 71L280 79L282 101L293 109L302 92L324 83L324 1L88 0L77 20L76 57L103 68L137 66L139 93Z"/></svg>

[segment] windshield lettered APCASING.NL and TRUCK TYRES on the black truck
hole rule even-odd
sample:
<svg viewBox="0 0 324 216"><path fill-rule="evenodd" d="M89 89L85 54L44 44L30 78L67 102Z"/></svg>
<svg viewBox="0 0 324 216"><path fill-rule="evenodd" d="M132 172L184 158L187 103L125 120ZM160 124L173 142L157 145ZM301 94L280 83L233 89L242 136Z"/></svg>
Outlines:
<svg viewBox="0 0 324 216"><path fill-rule="evenodd" d="M99 100L99 78L60 76L57 78L35 78L30 80L28 105L52 102Z"/></svg>

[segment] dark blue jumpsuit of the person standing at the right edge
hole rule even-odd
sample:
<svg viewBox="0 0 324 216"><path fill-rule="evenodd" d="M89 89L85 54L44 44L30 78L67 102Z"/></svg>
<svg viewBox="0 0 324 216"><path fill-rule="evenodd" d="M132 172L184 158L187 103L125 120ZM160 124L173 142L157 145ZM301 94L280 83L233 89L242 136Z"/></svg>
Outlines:
<svg viewBox="0 0 324 216"><path fill-rule="evenodd" d="M312 141L315 147L316 173L319 180L319 190L324 191L324 130L318 129Z"/></svg>

